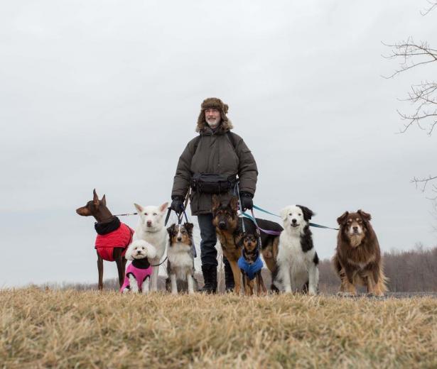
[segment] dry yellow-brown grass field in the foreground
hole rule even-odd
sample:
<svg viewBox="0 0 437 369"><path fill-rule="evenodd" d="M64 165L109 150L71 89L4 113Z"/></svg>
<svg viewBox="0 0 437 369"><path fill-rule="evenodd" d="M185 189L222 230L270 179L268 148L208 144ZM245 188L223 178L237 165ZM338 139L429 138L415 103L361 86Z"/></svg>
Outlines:
<svg viewBox="0 0 437 369"><path fill-rule="evenodd" d="M437 368L437 299L0 291L2 368Z"/></svg>

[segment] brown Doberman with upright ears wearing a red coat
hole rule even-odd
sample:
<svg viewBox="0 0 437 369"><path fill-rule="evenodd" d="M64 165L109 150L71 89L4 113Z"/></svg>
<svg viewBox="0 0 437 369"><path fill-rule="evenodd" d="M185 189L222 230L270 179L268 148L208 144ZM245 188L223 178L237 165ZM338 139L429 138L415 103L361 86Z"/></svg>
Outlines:
<svg viewBox="0 0 437 369"><path fill-rule="evenodd" d="M132 242L134 230L119 221L113 216L106 205L106 196L99 200L96 190L93 192L93 199L85 206L76 209L81 216L94 216L96 219L95 230L97 238L95 248L97 249L97 270L99 271L99 290L103 290L103 260L115 261L119 275L119 285L122 287L124 270L126 269L126 249Z"/></svg>

